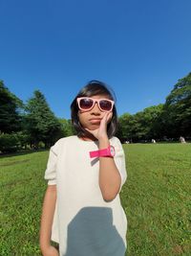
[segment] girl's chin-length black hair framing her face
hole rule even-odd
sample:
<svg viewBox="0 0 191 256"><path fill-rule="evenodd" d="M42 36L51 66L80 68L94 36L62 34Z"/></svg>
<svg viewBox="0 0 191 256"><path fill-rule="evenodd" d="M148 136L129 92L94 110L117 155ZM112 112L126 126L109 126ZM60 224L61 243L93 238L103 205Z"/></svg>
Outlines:
<svg viewBox="0 0 191 256"><path fill-rule="evenodd" d="M78 137L86 137L87 135L91 135L85 128L83 128L78 119L78 105L76 103L76 99L78 97L92 97L96 95L107 95L107 97L116 102L116 96L114 91L102 81L89 81L76 95L73 103L71 104L71 118L72 124L76 131ZM113 117L108 124L107 133L108 137L111 138L117 131L117 108L116 105L113 107Z"/></svg>

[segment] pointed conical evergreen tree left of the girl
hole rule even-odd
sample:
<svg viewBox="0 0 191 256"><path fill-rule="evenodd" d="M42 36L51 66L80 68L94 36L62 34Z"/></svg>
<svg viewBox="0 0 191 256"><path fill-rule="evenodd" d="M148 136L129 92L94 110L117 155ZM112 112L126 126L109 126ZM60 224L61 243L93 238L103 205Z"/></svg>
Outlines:
<svg viewBox="0 0 191 256"><path fill-rule="evenodd" d="M49 147L61 137L61 125L39 90L33 92L26 105L25 128L35 148L40 141Z"/></svg>

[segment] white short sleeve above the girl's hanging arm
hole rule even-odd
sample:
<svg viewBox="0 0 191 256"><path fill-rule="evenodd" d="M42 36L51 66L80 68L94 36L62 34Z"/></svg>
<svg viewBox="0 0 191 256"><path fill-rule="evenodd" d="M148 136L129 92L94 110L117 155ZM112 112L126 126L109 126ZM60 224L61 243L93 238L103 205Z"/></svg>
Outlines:
<svg viewBox="0 0 191 256"><path fill-rule="evenodd" d="M55 152L55 145L54 145L51 148L49 153L47 169L45 171L45 176L44 176L44 178L48 180L48 185L56 184L56 164L57 164L57 153Z"/></svg>

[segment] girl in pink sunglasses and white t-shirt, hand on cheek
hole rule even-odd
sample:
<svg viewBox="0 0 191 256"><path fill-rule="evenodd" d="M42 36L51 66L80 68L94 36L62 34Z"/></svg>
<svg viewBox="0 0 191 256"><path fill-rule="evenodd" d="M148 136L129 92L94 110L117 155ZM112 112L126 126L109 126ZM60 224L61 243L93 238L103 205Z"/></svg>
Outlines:
<svg viewBox="0 0 191 256"><path fill-rule="evenodd" d="M90 81L71 105L76 136L51 148L40 247L44 256L124 256L127 221L119 191L126 179L114 96ZM59 244L58 250L51 240Z"/></svg>

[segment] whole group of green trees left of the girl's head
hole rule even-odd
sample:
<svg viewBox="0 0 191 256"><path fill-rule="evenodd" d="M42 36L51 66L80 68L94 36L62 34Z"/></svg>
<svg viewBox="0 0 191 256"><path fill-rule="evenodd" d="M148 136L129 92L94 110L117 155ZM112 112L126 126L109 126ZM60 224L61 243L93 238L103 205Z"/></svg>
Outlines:
<svg viewBox="0 0 191 256"><path fill-rule="evenodd" d="M49 148L73 133L71 121L55 117L39 90L24 104L0 81L1 152Z"/></svg>

